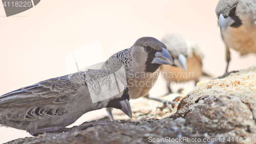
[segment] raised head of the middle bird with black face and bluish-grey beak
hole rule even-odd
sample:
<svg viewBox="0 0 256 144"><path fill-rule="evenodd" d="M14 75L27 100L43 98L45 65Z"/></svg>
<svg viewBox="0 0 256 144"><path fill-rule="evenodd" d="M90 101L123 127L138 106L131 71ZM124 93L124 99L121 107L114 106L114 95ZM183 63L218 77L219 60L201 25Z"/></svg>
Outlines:
<svg viewBox="0 0 256 144"><path fill-rule="evenodd" d="M145 67L145 72L153 73L160 65L173 65L173 59L166 50L166 46L153 37L139 38L131 47L133 61Z"/></svg>

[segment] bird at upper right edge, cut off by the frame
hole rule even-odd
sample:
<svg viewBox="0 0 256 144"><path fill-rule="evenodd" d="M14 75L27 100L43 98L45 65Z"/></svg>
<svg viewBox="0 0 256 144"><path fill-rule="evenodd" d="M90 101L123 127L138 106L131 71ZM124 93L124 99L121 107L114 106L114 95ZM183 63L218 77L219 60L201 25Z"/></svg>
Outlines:
<svg viewBox="0 0 256 144"><path fill-rule="evenodd" d="M222 39L226 45L226 61L232 48L240 54L256 53L256 1L220 0L216 7Z"/></svg>

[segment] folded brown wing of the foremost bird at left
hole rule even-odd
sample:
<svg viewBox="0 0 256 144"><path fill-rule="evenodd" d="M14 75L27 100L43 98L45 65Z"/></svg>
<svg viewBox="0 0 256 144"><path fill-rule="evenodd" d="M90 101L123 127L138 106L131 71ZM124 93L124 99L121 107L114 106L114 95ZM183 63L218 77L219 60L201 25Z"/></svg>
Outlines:
<svg viewBox="0 0 256 144"><path fill-rule="evenodd" d="M81 86L87 87L82 71L48 79L2 95L0 108L66 103Z"/></svg>

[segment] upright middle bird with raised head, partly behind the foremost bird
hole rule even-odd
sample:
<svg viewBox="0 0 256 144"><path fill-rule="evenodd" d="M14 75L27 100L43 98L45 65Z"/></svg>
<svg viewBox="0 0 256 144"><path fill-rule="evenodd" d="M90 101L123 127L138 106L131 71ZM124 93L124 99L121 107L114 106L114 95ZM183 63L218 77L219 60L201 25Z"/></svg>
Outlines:
<svg viewBox="0 0 256 144"><path fill-rule="evenodd" d="M131 99L137 99L148 97L148 91L157 81L160 74L158 68L162 64L173 64L173 59L166 50L166 46L156 38L142 37L131 48L112 55L101 69L116 70L123 65L127 85L130 88L130 97ZM111 109L109 108L107 111L111 121L114 121Z"/></svg>

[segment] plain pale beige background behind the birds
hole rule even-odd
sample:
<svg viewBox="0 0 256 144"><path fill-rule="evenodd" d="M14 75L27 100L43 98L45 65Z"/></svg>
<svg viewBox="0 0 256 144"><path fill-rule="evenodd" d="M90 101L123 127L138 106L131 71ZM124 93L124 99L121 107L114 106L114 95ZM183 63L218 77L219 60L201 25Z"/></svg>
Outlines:
<svg viewBox="0 0 256 144"><path fill-rule="evenodd" d="M0 95L66 75L67 54L84 44L100 40L108 58L140 37L161 39L169 32L196 41L205 54L203 69L212 76L222 75L226 62L215 14L217 3L44 0L11 17L6 17L0 6ZM254 55L240 58L237 52L231 53L229 70L256 63ZM158 95L159 89L151 94ZM76 124L102 114L104 110L87 113ZM0 128L0 142L26 136L30 135L25 131Z"/></svg>

